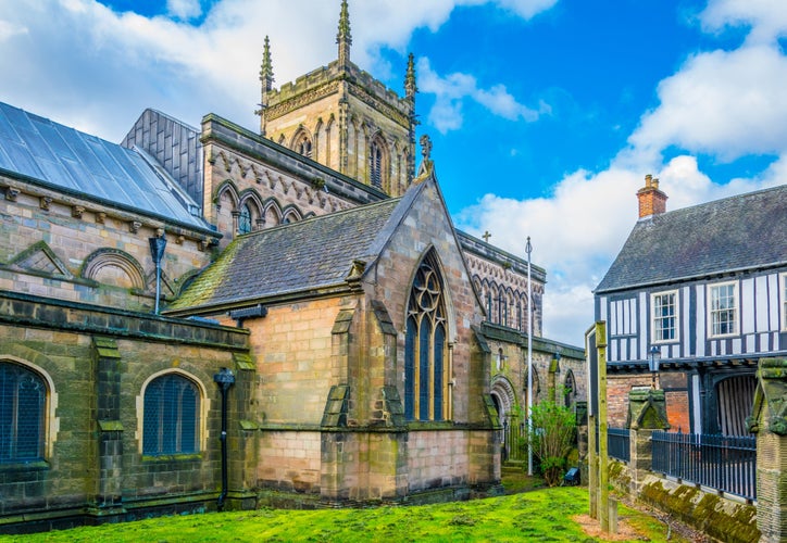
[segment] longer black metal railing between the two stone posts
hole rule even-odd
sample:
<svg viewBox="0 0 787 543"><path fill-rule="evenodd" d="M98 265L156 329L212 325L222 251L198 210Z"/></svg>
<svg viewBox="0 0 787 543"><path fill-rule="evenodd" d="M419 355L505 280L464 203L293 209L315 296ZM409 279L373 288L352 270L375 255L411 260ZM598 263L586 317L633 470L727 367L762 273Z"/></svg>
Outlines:
<svg viewBox="0 0 787 543"><path fill-rule="evenodd" d="M655 472L757 498L757 439L662 432L652 434Z"/></svg>

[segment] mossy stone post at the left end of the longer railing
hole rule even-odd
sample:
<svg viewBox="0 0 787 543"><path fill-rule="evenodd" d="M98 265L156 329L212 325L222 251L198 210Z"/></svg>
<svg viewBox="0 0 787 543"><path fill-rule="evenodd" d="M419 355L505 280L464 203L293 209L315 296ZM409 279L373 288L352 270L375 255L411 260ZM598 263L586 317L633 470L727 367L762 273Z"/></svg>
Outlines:
<svg viewBox="0 0 787 543"><path fill-rule="evenodd" d="M632 471L630 492L639 492L645 476L652 471L653 430L666 430L666 401L664 391L651 388L635 388L628 393L629 462Z"/></svg>

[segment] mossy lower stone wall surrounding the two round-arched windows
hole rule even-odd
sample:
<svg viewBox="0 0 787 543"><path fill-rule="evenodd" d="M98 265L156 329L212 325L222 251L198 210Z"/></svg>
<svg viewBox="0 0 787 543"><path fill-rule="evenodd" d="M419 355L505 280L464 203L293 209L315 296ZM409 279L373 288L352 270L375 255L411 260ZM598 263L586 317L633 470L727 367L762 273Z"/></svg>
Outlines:
<svg viewBox="0 0 787 543"><path fill-rule="evenodd" d="M0 465L0 531L32 518L48 529L211 507L221 489L213 375L227 367L242 379L235 357L248 356L247 339L241 330L0 292L0 363L40 376L48 406L43 459ZM171 371L199 386L199 452L143 456L143 387ZM229 412L233 437L247 417Z"/></svg>

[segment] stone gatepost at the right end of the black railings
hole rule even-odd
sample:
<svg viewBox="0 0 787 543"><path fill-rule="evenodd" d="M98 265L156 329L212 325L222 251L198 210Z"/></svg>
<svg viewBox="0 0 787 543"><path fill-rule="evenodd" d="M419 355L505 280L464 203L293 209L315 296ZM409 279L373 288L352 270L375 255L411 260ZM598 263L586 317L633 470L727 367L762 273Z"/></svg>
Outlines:
<svg viewBox="0 0 787 543"><path fill-rule="evenodd" d="M749 431L757 433L760 541L787 541L787 358L760 358Z"/></svg>

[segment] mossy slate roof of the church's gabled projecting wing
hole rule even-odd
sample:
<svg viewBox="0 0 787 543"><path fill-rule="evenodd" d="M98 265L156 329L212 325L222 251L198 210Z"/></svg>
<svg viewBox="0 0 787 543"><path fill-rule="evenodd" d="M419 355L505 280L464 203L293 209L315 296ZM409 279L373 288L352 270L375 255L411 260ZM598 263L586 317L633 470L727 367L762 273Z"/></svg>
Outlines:
<svg viewBox="0 0 787 543"><path fill-rule="evenodd" d="M241 236L167 312L196 313L189 310L346 286L353 261L368 269L417 192Z"/></svg>

